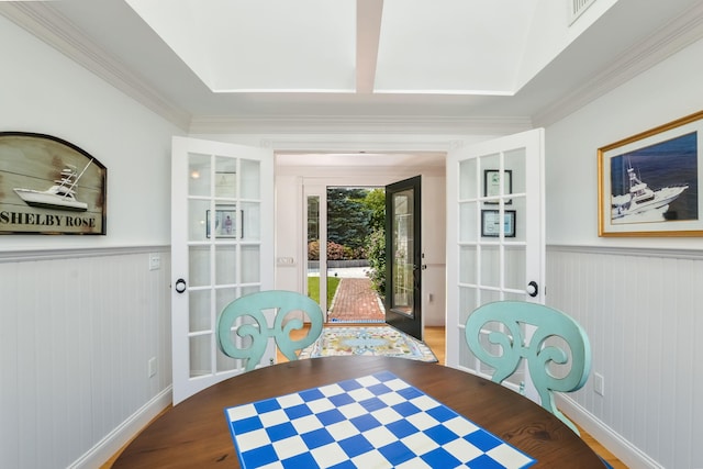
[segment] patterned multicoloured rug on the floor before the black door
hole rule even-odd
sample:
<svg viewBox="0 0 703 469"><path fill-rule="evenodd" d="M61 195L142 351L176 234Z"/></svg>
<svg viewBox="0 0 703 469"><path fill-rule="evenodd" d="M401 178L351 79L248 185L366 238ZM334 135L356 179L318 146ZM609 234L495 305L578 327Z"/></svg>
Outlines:
<svg viewBox="0 0 703 469"><path fill-rule="evenodd" d="M325 327L317 340L301 350L299 358L339 355L375 355L437 361L437 357L427 345L390 326Z"/></svg>

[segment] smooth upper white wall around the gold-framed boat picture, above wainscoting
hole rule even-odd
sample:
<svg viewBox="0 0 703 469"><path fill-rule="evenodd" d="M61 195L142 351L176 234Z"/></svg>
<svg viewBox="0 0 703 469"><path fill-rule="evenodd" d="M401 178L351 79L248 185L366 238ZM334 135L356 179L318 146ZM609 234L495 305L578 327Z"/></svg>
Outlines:
<svg viewBox="0 0 703 469"><path fill-rule="evenodd" d="M702 248L700 238L598 236L598 148L703 109L703 42L546 129L547 243ZM701 182L701 181L699 181Z"/></svg>

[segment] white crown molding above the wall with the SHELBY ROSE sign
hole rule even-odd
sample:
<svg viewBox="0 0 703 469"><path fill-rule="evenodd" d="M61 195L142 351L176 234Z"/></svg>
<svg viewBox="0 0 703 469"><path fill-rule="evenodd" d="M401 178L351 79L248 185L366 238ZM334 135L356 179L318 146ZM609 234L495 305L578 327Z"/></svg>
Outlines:
<svg viewBox="0 0 703 469"><path fill-rule="evenodd" d="M0 14L182 130L190 114L178 109L120 60L96 47L51 2L0 2Z"/></svg>

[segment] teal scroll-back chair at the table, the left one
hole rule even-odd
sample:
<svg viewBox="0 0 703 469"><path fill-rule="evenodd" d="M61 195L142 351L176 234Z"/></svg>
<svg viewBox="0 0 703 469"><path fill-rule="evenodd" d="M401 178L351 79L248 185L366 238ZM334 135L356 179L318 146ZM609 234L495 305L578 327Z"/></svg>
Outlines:
<svg viewBox="0 0 703 469"><path fill-rule="evenodd" d="M264 315L266 310L276 310L272 327L268 326ZM292 340L290 333L303 328L304 324L298 317L287 320L287 316L299 311L310 319L310 331L305 337ZM255 322L235 324L237 319L245 316ZM308 347L320 337L323 322L320 305L304 294L284 290L259 291L237 298L222 310L217 317L217 345L225 355L246 360L245 369L250 371L261 361L271 337L286 358L297 360L297 350ZM236 340L236 336L250 340ZM250 344L244 346L237 342Z"/></svg>

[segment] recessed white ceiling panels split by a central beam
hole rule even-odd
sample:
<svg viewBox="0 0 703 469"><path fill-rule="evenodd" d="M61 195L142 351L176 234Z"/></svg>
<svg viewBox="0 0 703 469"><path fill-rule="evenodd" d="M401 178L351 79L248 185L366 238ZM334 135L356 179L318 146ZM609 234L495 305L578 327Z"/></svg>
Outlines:
<svg viewBox="0 0 703 469"><path fill-rule="evenodd" d="M574 37L555 0L127 3L213 92L512 96Z"/></svg>

